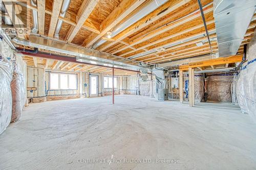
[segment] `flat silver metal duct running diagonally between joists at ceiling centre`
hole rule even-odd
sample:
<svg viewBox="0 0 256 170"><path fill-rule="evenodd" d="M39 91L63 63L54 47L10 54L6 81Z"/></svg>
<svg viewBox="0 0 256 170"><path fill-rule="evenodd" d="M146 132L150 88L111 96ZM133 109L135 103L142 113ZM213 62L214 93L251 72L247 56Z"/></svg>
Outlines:
<svg viewBox="0 0 256 170"><path fill-rule="evenodd" d="M126 28L132 26L135 22L137 22L138 20L140 20L144 16L148 15L152 11L156 10L159 6L163 5L166 2L167 2L167 0L154 0L154 1L151 1L145 7L143 7L140 11L138 11L136 14L134 14L129 19L127 19L125 22L120 23L119 25L114 27L113 30L111 30L111 33L112 33L111 37L116 36L117 34L122 32L123 30L125 30ZM99 45L103 44L104 42L106 42L106 41L105 40L100 40L93 47L96 48Z"/></svg>

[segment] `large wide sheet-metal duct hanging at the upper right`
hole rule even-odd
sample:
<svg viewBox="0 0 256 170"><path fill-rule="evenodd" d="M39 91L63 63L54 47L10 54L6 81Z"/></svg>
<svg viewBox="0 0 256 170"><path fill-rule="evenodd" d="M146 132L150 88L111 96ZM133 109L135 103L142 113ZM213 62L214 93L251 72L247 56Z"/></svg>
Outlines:
<svg viewBox="0 0 256 170"><path fill-rule="evenodd" d="M219 56L236 55L255 11L255 0L214 0Z"/></svg>

